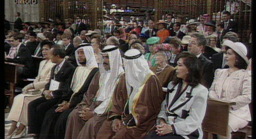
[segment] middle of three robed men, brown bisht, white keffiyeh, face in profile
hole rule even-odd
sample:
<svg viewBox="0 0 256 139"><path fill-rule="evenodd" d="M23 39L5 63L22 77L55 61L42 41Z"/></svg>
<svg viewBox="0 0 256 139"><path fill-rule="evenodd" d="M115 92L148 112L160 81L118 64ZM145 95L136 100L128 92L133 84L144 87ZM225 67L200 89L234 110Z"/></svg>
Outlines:
<svg viewBox="0 0 256 139"><path fill-rule="evenodd" d="M101 55L103 59L99 64L100 76L92 80L86 93L96 92L94 100L87 103L86 100L93 96L84 97L79 107L70 113L65 139L95 139L99 128L107 119L113 92L120 83L123 83L125 88L125 74L119 48L108 45Z"/></svg>

